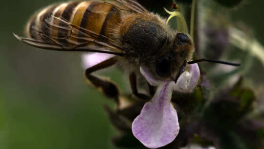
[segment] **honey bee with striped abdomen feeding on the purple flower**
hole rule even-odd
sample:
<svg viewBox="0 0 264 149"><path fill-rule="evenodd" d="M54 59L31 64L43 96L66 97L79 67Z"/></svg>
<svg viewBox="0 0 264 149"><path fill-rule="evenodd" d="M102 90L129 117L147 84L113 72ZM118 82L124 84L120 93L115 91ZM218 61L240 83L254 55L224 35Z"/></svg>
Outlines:
<svg viewBox="0 0 264 149"><path fill-rule="evenodd" d="M140 66L148 67L161 80L176 81L187 64L210 61L191 61L195 46L190 35L171 29L166 19L149 12L135 0L53 4L33 15L25 32L26 38L15 36L30 46L114 55L85 73L110 98L118 98L117 86L92 75L93 72L117 63L129 72L132 93L138 98L150 99L137 90Z"/></svg>

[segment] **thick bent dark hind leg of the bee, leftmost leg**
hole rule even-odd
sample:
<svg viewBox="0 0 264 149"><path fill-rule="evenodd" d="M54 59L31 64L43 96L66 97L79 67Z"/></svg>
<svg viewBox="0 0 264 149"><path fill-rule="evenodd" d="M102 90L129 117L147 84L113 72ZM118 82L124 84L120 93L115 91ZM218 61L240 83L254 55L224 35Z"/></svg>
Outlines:
<svg viewBox="0 0 264 149"><path fill-rule="evenodd" d="M116 100L116 102L118 103L118 97L119 97L119 89L118 87L111 82L110 80L107 79L102 79L99 78L95 75L91 75L91 73L110 67L113 64L115 64L117 62L117 60L112 57L108 60L105 60L99 64L96 64L88 69L86 69L85 71L85 76L86 78L90 81L90 83L92 83L96 88L98 89L102 89L102 92L108 97L108 98L113 98Z"/></svg>

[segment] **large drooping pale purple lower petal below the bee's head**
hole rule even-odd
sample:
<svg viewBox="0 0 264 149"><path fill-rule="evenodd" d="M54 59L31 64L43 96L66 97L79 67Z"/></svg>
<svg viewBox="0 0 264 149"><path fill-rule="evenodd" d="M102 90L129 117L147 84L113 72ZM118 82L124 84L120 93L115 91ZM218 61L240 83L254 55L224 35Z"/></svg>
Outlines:
<svg viewBox="0 0 264 149"><path fill-rule="evenodd" d="M146 147L156 149L171 143L179 132L176 110L171 104L173 82L163 82L132 123L133 135Z"/></svg>

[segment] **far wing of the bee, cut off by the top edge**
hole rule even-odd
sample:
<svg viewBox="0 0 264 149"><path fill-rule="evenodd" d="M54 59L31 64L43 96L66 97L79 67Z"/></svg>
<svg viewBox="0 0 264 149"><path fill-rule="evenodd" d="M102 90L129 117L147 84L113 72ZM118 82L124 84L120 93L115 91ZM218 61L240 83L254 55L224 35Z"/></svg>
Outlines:
<svg viewBox="0 0 264 149"><path fill-rule="evenodd" d="M143 15L149 13L147 9L145 9L141 4L137 2L137 0L113 0L113 1L116 1L122 4L123 6L125 6L126 8L131 9L132 11L135 11L137 13Z"/></svg>

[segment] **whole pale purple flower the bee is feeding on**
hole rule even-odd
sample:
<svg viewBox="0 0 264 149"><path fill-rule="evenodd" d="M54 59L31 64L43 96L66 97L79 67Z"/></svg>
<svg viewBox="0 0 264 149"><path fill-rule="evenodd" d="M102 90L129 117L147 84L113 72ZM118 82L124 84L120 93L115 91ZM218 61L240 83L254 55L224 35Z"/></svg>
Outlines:
<svg viewBox="0 0 264 149"><path fill-rule="evenodd" d="M158 80L146 67L140 67L141 74L153 86L157 86L153 99L145 103L140 115L132 123L133 135L146 147L156 149L171 143L179 132L178 117L170 102L173 90L192 92L200 76L197 64L174 81Z"/></svg>

